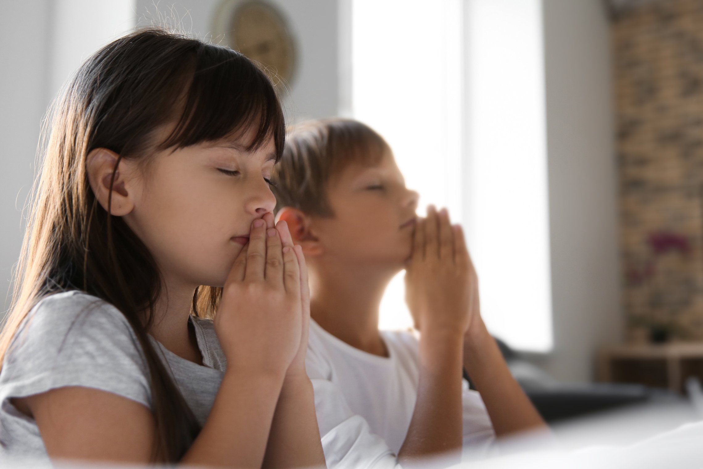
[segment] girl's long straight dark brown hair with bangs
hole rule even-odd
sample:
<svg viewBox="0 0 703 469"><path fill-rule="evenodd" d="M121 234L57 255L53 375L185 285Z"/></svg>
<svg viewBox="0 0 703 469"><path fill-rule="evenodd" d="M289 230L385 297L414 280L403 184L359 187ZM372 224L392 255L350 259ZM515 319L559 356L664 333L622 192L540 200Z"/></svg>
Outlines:
<svg viewBox="0 0 703 469"><path fill-rule="evenodd" d="M127 224L97 203L86 155L108 148L146 165L157 150L253 128L250 148L273 138L280 157L285 124L276 91L240 53L150 27L112 41L86 60L52 115L44 129L44 166L34 184L12 307L0 333L0 364L41 298L82 290L109 302L129 321L148 365L156 424L153 457L179 461L200 429L148 340L160 274ZM167 139L154 141L157 129L167 125L173 128ZM220 295L221 288L198 288L193 314L212 317Z"/></svg>

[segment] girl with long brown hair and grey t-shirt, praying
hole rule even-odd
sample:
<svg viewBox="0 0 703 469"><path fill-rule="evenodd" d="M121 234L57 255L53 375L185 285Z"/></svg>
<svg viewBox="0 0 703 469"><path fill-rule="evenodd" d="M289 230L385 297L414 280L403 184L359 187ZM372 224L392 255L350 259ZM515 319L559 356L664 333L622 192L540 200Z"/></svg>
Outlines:
<svg viewBox="0 0 703 469"><path fill-rule="evenodd" d="M307 271L270 213L284 129L269 79L230 49L150 28L86 60L0 337L0 451L323 463Z"/></svg>

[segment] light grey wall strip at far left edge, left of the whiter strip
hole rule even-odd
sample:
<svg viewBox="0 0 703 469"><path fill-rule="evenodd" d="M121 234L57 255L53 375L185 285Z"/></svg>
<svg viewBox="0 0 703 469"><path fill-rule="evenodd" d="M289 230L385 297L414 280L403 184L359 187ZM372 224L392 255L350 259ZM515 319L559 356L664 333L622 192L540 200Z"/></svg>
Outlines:
<svg viewBox="0 0 703 469"><path fill-rule="evenodd" d="M0 307L8 288L24 224L21 210L32 186L39 124L49 103L51 1L7 1L0 28ZM2 314L0 313L0 318Z"/></svg>

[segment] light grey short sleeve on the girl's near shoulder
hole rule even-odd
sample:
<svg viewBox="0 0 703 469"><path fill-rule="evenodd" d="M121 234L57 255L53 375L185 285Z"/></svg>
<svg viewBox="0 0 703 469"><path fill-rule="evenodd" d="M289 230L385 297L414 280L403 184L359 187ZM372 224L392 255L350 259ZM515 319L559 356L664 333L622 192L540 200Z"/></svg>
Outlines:
<svg viewBox="0 0 703 469"><path fill-rule="evenodd" d="M78 292L51 295L30 311L0 373L3 399L67 386L150 406L148 368L127 319L111 304Z"/></svg>

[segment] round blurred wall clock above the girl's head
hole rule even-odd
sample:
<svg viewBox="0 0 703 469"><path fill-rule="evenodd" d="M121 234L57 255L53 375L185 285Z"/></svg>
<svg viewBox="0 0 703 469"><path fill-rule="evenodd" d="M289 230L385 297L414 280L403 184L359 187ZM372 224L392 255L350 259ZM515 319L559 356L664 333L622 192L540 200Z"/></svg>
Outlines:
<svg viewBox="0 0 703 469"><path fill-rule="evenodd" d="M214 38L264 65L273 83L290 84L296 48L288 23L276 6L262 0L224 0L213 21Z"/></svg>

